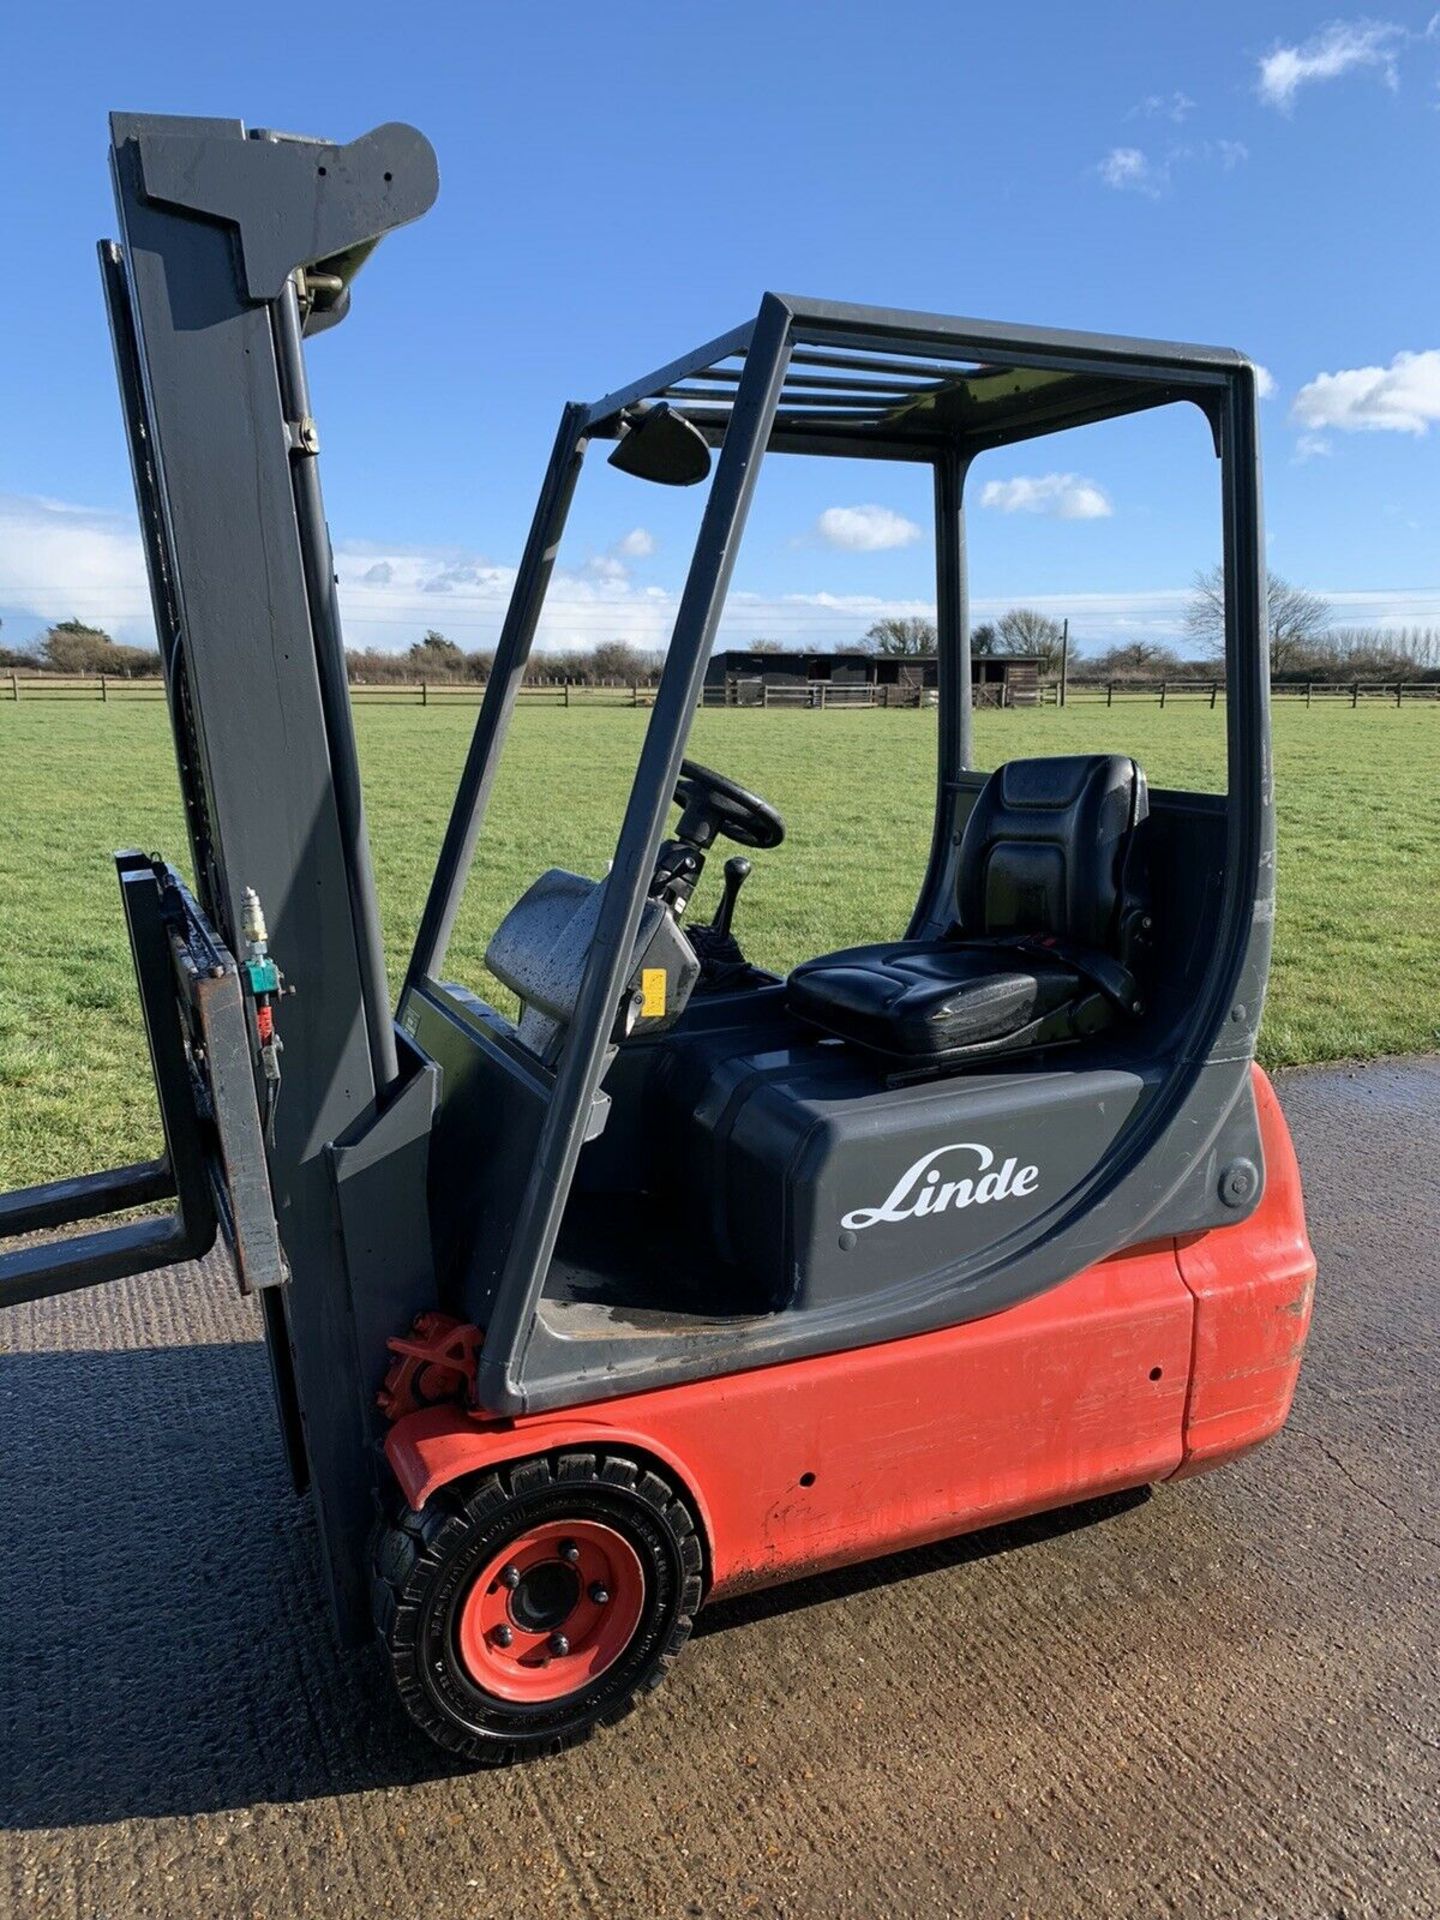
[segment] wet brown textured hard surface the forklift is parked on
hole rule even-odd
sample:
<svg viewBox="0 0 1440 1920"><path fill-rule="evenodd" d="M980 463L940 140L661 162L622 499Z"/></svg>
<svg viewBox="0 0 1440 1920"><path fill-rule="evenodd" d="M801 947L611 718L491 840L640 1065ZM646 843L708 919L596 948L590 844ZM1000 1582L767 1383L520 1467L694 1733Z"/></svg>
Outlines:
<svg viewBox="0 0 1440 1920"><path fill-rule="evenodd" d="M509 1774L334 1651L219 1265L12 1309L0 1912L1430 1920L1440 1060L1281 1096L1321 1283L1279 1440L716 1607Z"/></svg>

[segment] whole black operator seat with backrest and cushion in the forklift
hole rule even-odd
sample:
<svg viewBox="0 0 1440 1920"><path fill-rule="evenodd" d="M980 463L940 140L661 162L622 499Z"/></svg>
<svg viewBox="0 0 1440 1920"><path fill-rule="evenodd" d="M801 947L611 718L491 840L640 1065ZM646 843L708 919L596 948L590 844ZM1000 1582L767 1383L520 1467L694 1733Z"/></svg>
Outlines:
<svg viewBox="0 0 1440 1920"><path fill-rule="evenodd" d="M1010 760L960 841L956 925L849 947L789 975L789 1010L893 1071L1085 1039L1140 1012L1142 770L1125 755Z"/></svg>

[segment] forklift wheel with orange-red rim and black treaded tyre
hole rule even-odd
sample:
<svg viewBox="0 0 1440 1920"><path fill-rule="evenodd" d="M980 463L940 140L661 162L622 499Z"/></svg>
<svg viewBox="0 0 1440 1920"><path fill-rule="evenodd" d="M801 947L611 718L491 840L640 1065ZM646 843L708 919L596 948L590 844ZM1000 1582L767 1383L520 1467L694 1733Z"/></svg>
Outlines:
<svg viewBox="0 0 1440 1920"><path fill-rule="evenodd" d="M401 1703L488 1766L622 1718L664 1678L699 1599L685 1501L616 1455L518 1461L376 1536L376 1626Z"/></svg>

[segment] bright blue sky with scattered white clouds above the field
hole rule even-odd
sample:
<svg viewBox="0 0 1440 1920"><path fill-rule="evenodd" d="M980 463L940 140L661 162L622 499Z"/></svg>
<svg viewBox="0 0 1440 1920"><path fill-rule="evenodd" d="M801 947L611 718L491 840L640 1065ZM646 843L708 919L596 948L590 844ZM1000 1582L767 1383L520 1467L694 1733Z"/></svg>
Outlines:
<svg viewBox="0 0 1440 1920"><path fill-rule="evenodd" d="M92 244L111 108L353 138L442 192L311 349L348 637L493 639L566 397L764 288L1238 346L1263 363L1271 564L1340 620L1440 622L1440 15L1308 4L833 0L10 12L0 616L146 639ZM1177 630L1217 557L1198 415L993 455L979 611ZM920 478L772 459L726 639L837 645L933 597ZM660 643L693 495L591 459L543 637Z"/></svg>

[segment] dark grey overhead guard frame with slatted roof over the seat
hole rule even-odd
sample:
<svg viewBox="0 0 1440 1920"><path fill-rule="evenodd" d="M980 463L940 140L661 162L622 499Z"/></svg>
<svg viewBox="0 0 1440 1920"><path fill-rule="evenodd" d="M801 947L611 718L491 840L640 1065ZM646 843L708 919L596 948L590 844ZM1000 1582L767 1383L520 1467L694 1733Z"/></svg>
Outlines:
<svg viewBox="0 0 1440 1920"><path fill-rule="evenodd" d="M918 361L920 374L906 378L904 361ZM716 376L726 363L735 363L730 369L733 378L720 380ZM799 374L793 372L797 367ZM1012 390L1006 390L1006 376L1020 371L1035 378L1016 378ZM822 378L833 384L810 384ZM722 388L728 397L714 399L710 386ZM947 397L962 388L966 397L972 388L981 392L981 401L970 413L966 405ZM916 461L933 470L941 726L935 835L912 918L916 929L935 918L937 889L947 870L947 803L973 758L964 564L964 482L970 463L979 451L1035 434L1175 401L1200 407L1221 461L1225 637L1233 687L1227 703L1223 899L1212 962L1188 1025L1192 1041L1181 1068L1169 1077L1165 1094L1152 1104L1146 1123L1135 1129L1137 1137L1125 1156L1106 1167L1112 1188L1139 1167L1148 1144L1175 1121L1194 1094L1206 1064L1225 1073L1238 1068L1242 1056L1248 1062L1260 1018L1260 983L1269 958L1273 810L1265 745L1269 676L1263 645L1254 367L1225 348L1031 330L768 294L755 321L597 401L564 409L411 956L401 1021L407 998L440 983L445 945L586 445L589 440L616 438L622 413L655 399L666 399L697 424L718 445L720 455L620 826L595 941L564 1048L547 1083L540 1142L486 1329L476 1402L497 1415L532 1411L545 1404L563 1405L578 1390L574 1377L551 1377L543 1398L536 1394L532 1350L540 1302L588 1135L588 1116L599 1096L612 1010L630 964L689 722L701 697L760 461L768 451ZM987 411L985 401L993 411ZM939 428L937 420L943 422ZM1231 1014L1231 1008L1238 1008L1238 1014ZM1221 1033L1225 1039L1217 1041ZM1229 1071L1227 1079L1235 1081L1233 1098L1246 1100L1246 1075ZM1096 1204L1096 1179L1085 1181L1071 1196L1071 1229ZM1096 1258L1102 1252L1096 1246ZM818 1350L824 1350L824 1336L820 1342ZM657 1377L653 1384L662 1384L662 1379Z"/></svg>

